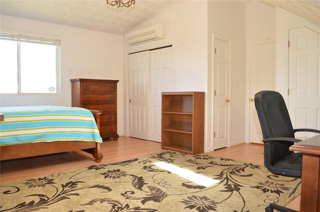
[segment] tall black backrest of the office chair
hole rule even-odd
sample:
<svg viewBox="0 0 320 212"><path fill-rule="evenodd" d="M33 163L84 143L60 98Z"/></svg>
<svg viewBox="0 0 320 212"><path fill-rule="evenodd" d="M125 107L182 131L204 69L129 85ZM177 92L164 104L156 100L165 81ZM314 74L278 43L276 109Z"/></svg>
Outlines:
<svg viewBox="0 0 320 212"><path fill-rule="evenodd" d="M280 93L260 91L254 95L254 103L263 139L273 137L294 138L289 113Z"/></svg>

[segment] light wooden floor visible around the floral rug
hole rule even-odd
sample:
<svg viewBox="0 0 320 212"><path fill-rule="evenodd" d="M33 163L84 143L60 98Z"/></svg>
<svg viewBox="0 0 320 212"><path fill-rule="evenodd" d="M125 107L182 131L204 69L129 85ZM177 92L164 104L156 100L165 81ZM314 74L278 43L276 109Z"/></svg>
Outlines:
<svg viewBox="0 0 320 212"><path fill-rule="evenodd" d="M103 154L101 163L163 151L160 143L124 136L120 136L117 141L104 141L100 147ZM261 144L240 144L208 152L207 154L263 164L263 145ZM1 161L0 182L36 177L95 164L93 157L82 151ZM300 196L286 207L298 211L299 206Z"/></svg>

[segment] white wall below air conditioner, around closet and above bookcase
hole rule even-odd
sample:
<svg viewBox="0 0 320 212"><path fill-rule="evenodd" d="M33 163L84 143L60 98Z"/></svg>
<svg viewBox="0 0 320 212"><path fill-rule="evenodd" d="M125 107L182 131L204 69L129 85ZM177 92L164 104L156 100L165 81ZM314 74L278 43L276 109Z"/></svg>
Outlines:
<svg viewBox="0 0 320 212"><path fill-rule="evenodd" d="M136 29L164 23L165 38L130 46L124 44L124 69L127 80L127 54L172 45L174 58L174 91L203 91L207 84L207 2L179 1L161 13L145 20ZM127 84L127 83L125 83ZM127 89L127 88L125 88ZM127 99L127 96L124 97ZM126 101L127 102L127 101Z"/></svg>

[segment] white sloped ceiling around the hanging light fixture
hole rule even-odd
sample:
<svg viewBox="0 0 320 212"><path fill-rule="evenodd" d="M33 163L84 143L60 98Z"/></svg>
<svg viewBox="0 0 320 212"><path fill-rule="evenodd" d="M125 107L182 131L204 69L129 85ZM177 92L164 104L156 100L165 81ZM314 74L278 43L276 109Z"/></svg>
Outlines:
<svg viewBox="0 0 320 212"><path fill-rule="evenodd" d="M4 15L124 34L141 21L179 0L135 0L133 7L116 8L105 0L0 0ZM241 0L244 3L250 0ZM320 0L261 0L320 26Z"/></svg>

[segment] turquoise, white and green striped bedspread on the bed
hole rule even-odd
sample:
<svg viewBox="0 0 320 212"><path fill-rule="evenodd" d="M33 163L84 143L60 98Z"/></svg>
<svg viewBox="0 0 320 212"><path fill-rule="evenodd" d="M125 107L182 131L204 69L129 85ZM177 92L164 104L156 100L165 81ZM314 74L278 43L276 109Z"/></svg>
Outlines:
<svg viewBox="0 0 320 212"><path fill-rule="evenodd" d="M79 107L0 107L0 146L53 141L102 143L94 117Z"/></svg>

